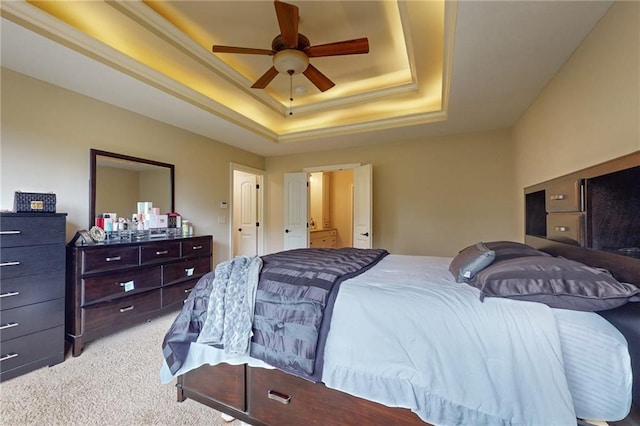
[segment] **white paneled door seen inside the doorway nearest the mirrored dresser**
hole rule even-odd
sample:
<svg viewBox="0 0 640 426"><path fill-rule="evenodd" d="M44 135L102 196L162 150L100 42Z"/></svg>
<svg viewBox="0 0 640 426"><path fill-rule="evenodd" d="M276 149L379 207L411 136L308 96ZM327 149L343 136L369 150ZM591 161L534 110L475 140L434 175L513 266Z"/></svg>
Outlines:
<svg viewBox="0 0 640 426"><path fill-rule="evenodd" d="M233 172L233 255L258 254L258 177L240 170Z"/></svg>

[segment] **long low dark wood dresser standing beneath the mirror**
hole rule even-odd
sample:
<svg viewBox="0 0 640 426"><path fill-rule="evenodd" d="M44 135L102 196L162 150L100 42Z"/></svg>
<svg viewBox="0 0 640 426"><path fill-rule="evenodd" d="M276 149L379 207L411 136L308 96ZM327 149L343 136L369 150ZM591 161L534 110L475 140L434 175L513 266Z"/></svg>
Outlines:
<svg viewBox="0 0 640 426"><path fill-rule="evenodd" d="M211 271L211 236L67 248L66 334L73 356L87 342L180 309Z"/></svg>

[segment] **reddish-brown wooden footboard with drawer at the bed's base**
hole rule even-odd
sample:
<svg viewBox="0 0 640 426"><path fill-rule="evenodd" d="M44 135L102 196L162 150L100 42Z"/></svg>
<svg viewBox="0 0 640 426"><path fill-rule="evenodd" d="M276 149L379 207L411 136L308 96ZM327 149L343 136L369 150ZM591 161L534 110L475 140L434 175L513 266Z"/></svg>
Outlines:
<svg viewBox="0 0 640 426"><path fill-rule="evenodd" d="M178 377L178 401L193 399L252 425L424 423L410 410L390 408L279 370L205 365Z"/></svg>

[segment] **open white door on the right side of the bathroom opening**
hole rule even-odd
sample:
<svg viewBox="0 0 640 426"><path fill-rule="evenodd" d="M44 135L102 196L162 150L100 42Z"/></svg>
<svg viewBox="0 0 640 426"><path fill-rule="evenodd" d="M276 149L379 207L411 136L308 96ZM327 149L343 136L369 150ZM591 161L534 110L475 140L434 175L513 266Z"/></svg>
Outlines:
<svg viewBox="0 0 640 426"><path fill-rule="evenodd" d="M371 164L353 169L353 246L371 248L373 188Z"/></svg>

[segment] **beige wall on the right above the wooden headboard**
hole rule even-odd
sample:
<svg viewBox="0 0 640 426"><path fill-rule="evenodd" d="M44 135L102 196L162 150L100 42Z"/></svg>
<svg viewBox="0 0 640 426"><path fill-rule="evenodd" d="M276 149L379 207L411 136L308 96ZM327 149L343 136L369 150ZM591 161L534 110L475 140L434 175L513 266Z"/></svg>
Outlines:
<svg viewBox="0 0 640 426"><path fill-rule="evenodd" d="M640 149L640 2L616 2L514 128L522 188Z"/></svg>

